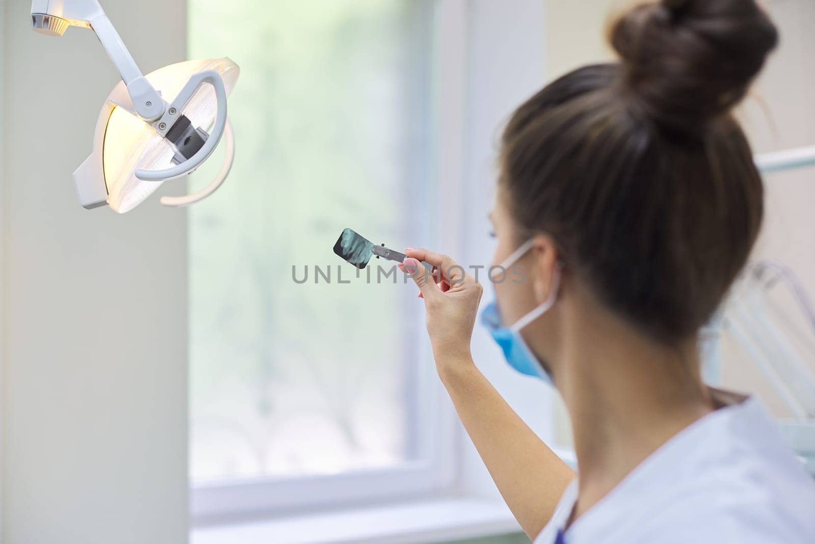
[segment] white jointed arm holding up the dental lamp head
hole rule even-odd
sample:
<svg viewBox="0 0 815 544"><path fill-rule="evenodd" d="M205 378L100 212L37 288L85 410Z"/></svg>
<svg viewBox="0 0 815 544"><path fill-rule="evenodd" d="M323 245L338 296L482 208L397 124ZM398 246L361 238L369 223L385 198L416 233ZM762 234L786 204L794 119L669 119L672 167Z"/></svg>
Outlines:
<svg viewBox="0 0 815 544"><path fill-rule="evenodd" d="M31 20L35 30L52 36L62 36L68 26L92 29L125 82L139 117L155 121L164 114L165 101L143 76L98 0L32 0Z"/></svg>

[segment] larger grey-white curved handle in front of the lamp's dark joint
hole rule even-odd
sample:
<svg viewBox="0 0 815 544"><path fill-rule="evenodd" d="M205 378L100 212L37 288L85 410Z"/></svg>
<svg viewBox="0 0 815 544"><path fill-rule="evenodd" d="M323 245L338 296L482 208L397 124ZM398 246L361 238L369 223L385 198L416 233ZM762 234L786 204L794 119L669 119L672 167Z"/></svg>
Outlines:
<svg viewBox="0 0 815 544"><path fill-rule="evenodd" d="M178 96L173 100L173 103L165 110L164 117L161 117L159 122L170 115L177 115L180 113L187 102L192 98L193 93L198 90L198 87L209 83L215 89L215 99L218 102L218 113L215 116L215 125L213 126L212 133L206 139L204 145L196 152L195 155L183 161L176 166L170 166L163 170L145 170L139 168L135 171L135 175L139 179L145 181L165 181L167 179L180 178L183 175L189 174L195 170L202 162L204 162L209 155L215 150L215 146L221 141L223 130L227 125L227 89L223 86L223 80L214 70L204 70L203 72L194 73L190 77L184 88L178 93ZM173 113L170 113L173 112ZM170 126L170 123L167 123Z"/></svg>

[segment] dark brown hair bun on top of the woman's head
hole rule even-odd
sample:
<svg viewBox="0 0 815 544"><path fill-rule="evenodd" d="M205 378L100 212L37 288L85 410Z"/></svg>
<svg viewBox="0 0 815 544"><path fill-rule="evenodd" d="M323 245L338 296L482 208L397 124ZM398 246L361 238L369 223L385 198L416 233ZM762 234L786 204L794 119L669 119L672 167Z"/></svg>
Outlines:
<svg viewBox="0 0 815 544"><path fill-rule="evenodd" d="M693 131L742 100L778 31L755 0L663 0L622 15L610 42L637 108Z"/></svg>

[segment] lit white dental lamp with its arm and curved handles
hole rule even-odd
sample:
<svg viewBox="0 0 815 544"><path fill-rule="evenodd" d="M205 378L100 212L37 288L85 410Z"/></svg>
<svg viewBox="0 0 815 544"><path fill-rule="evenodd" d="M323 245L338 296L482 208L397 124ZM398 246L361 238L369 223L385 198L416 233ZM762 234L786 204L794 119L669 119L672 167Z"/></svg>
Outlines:
<svg viewBox="0 0 815 544"><path fill-rule="evenodd" d="M121 75L99 113L93 151L73 173L83 207L132 210L165 181L196 170L222 137L226 157L215 179L198 192L161 197L161 204L187 206L223 183L235 157L227 96L240 74L237 64L227 57L187 60L145 76L98 0L33 0L31 21L49 36L62 36L69 26L93 30Z"/></svg>

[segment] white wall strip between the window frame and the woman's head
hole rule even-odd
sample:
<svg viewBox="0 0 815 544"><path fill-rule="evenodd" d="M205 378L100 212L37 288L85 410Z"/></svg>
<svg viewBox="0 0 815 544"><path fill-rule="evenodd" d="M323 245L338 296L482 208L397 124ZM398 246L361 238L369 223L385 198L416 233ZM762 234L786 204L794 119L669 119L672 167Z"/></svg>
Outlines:
<svg viewBox="0 0 815 544"><path fill-rule="evenodd" d="M495 197L496 152L501 130L513 110L544 86L544 11L540 0L468 0L467 6L467 201L461 218L466 234L462 240L464 250L456 259L461 263L490 263L495 248L484 241L491 229L487 216ZM485 273L480 271L482 278ZM482 304L493 296L485 293ZM472 351L478 354L478 368L509 405L541 438L550 441L554 397L550 388L511 369L482 326L474 329ZM463 443L462 491L497 497L496 486L469 437Z"/></svg>

